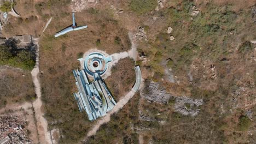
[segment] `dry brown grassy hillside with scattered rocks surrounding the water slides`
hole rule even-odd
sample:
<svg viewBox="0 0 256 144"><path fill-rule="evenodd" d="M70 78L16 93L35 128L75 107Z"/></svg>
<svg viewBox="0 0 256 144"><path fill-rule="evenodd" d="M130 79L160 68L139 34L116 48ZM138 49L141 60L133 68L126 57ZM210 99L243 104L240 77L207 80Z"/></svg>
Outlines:
<svg viewBox="0 0 256 144"><path fill-rule="evenodd" d="M88 25L82 31L54 38L56 32L72 24L71 1L65 0L18 1L17 10L24 16L22 20L11 17L5 28L7 35L39 35L46 20L53 17L40 37L39 69L45 117L50 129L60 130L60 143L82 140L96 123L79 112L72 96L77 91L72 74L79 67L77 58L92 48L108 54L129 50L128 32L135 34L137 50L145 56L136 64L142 69L146 87L89 137L88 143L256 141L255 1L87 4L75 13L78 25ZM37 18L30 19L32 15ZM172 28L169 33L168 27ZM132 86L132 68L130 59L122 59L106 79L117 101ZM184 111L198 112L192 116Z"/></svg>

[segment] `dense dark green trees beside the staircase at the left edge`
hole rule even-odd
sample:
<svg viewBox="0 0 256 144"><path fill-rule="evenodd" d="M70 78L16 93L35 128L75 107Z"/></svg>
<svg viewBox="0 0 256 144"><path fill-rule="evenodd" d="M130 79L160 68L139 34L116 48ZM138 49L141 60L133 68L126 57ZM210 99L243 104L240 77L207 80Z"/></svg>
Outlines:
<svg viewBox="0 0 256 144"><path fill-rule="evenodd" d="M0 65L10 65L25 70L34 67L34 54L29 50L16 50L14 47L0 46Z"/></svg>

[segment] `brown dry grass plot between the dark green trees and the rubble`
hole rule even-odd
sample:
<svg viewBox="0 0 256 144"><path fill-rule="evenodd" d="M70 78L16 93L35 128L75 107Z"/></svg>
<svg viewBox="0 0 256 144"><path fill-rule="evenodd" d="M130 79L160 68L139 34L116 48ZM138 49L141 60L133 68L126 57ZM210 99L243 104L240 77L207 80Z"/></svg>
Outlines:
<svg viewBox="0 0 256 144"><path fill-rule="evenodd" d="M36 97L30 71L1 66L0 83L0 107Z"/></svg>

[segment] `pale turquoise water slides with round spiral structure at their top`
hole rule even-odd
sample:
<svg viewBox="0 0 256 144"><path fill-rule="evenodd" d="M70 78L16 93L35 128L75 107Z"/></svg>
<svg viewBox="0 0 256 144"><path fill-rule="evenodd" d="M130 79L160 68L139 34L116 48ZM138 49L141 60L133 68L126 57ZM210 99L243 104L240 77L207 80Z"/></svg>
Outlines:
<svg viewBox="0 0 256 144"><path fill-rule="evenodd" d="M85 111L90 121L106 115L117 104L100 77L106 72L109 62L112 62L110 56L105 57L102 53L94 52L85 57L85 69L73 70L78 88L74 98L80 112ZM88 74L94 77L94 81L90 82Z"/></svg>

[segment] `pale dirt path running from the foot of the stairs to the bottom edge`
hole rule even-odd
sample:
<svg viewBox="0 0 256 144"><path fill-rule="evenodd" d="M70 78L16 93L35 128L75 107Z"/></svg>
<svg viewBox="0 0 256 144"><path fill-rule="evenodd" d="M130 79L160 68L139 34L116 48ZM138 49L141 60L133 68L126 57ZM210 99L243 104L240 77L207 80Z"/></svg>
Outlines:
<svg viewBox="0 0 256 144"><path fill-rule="evenodd" d="M42 112L42 100L41 100L41 87L38 80L39 68L34 68L31 71L35 91L37 94L37 99L33 102L33 107L35 111L35 117L37 121L37 129L39 134L40 143L51 143L50 132L48 131L48 123L43 117L44 113Z"/></svg>

